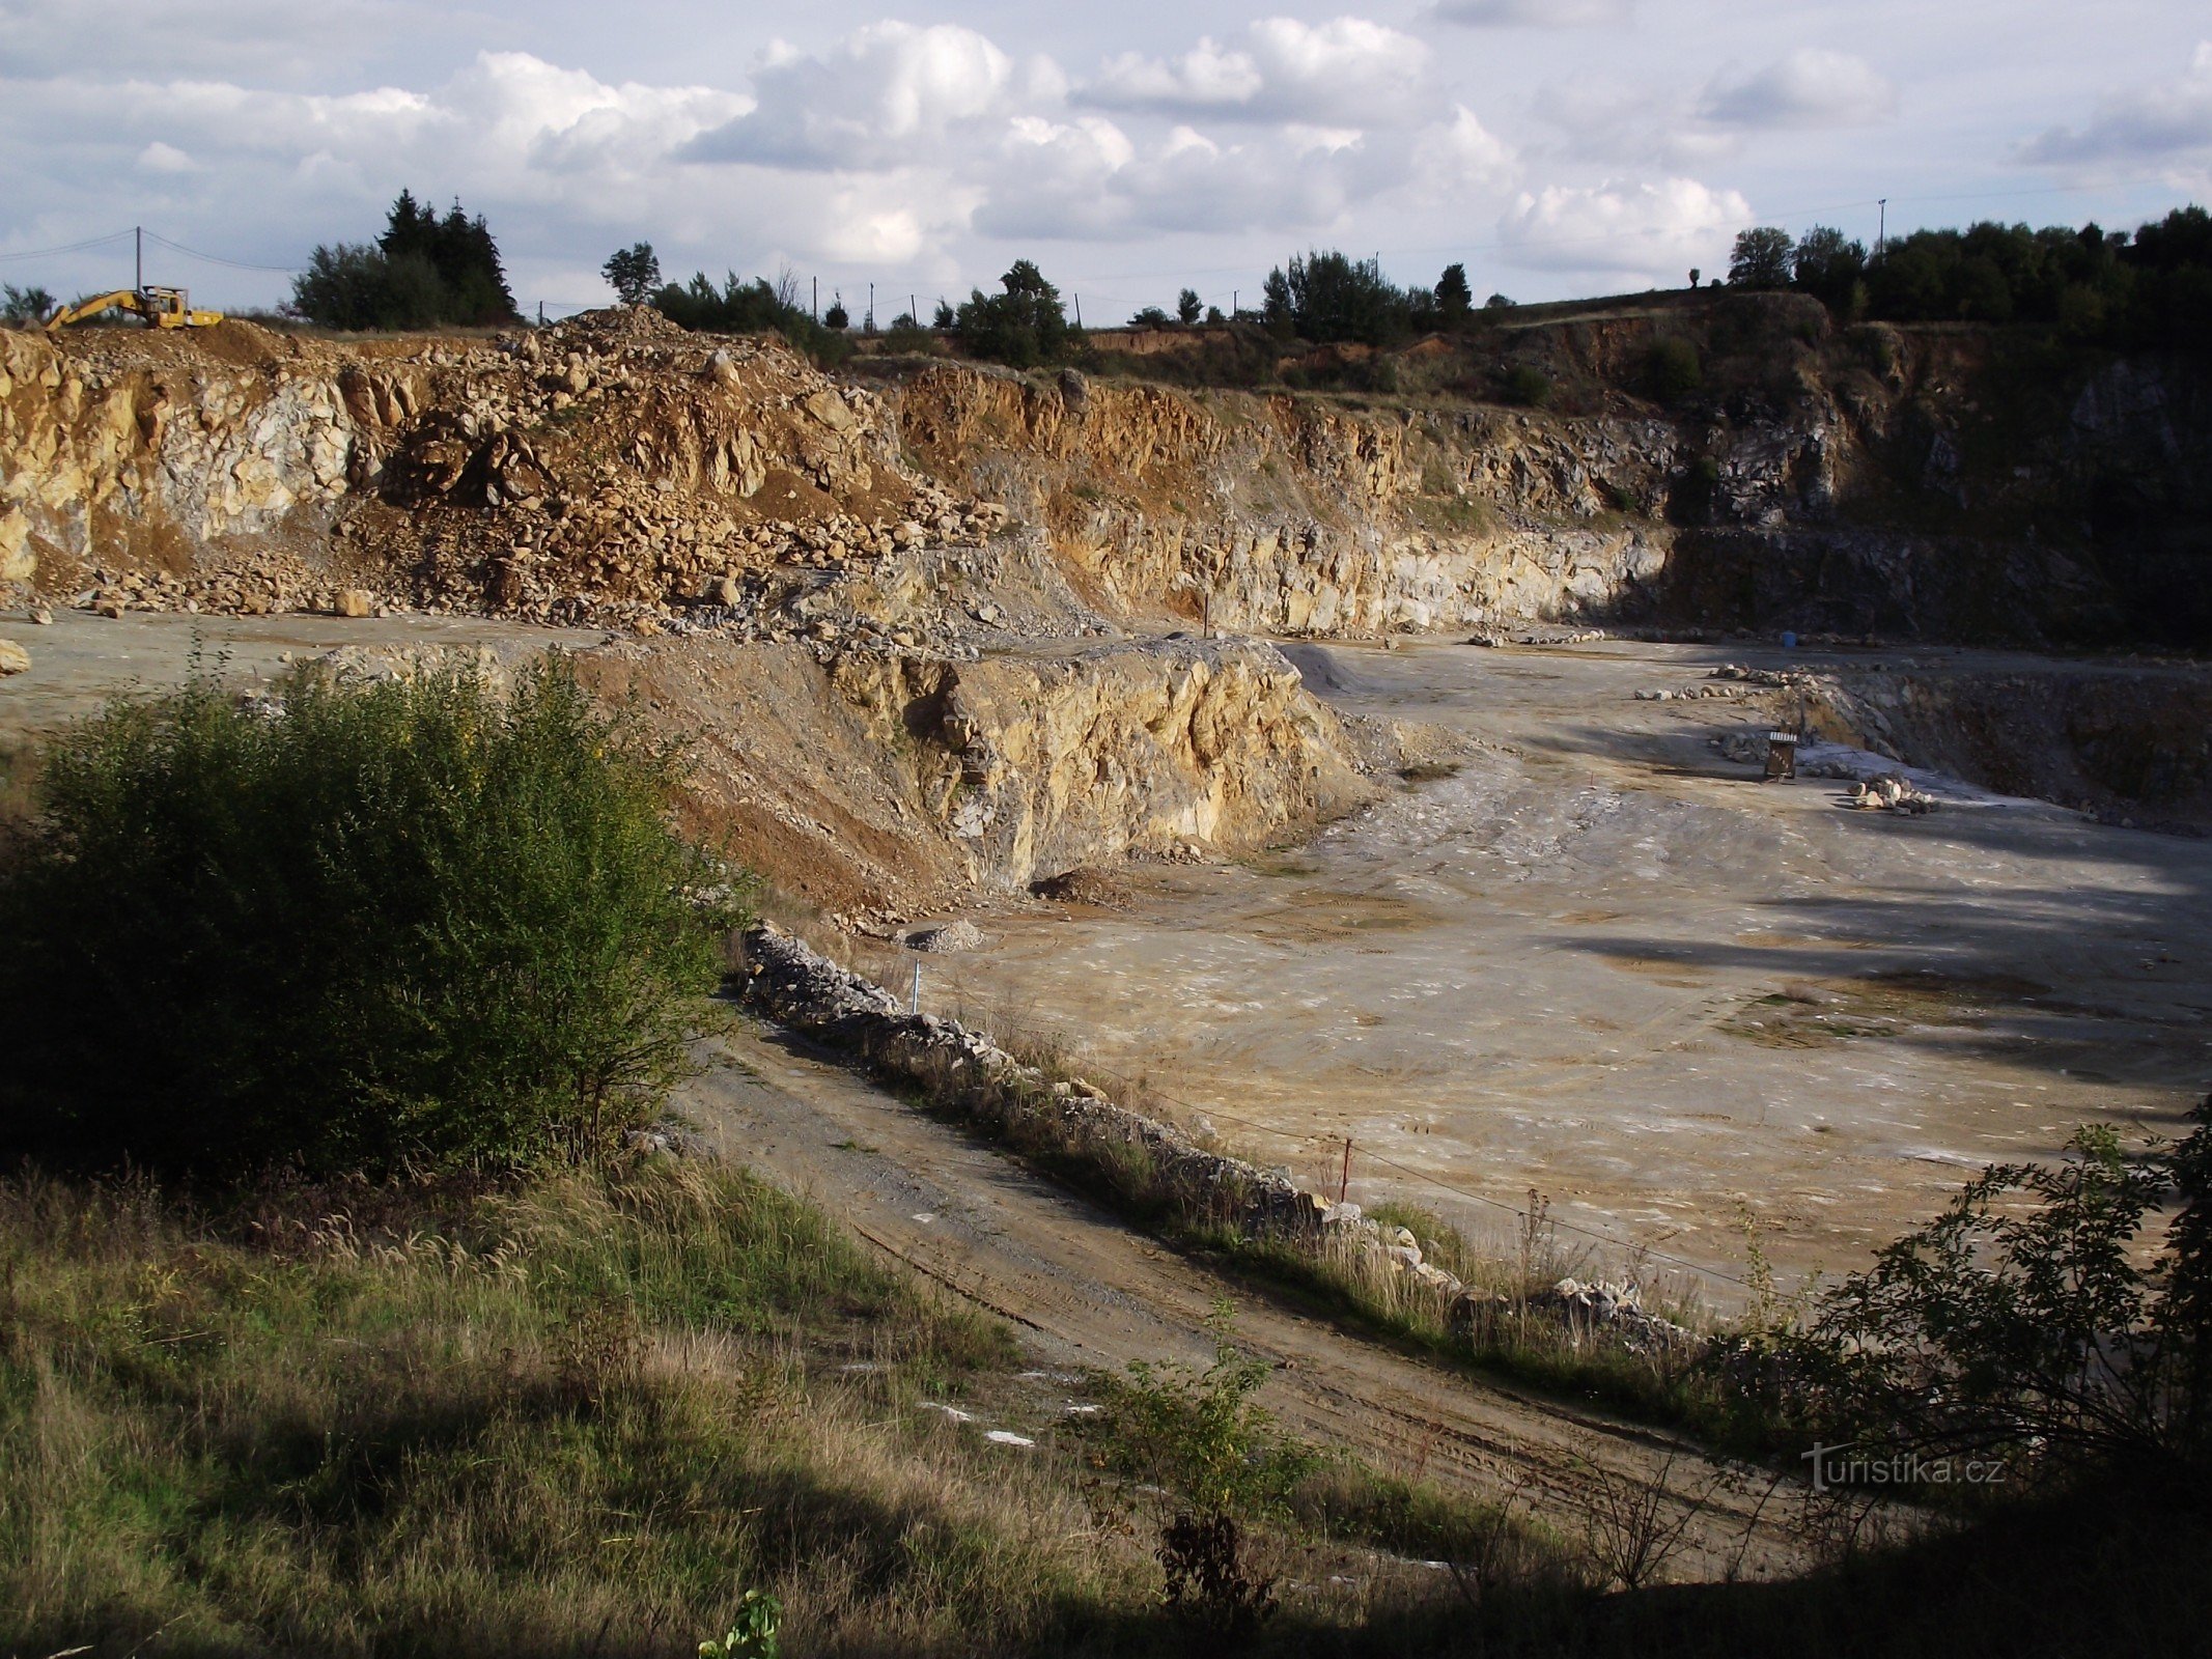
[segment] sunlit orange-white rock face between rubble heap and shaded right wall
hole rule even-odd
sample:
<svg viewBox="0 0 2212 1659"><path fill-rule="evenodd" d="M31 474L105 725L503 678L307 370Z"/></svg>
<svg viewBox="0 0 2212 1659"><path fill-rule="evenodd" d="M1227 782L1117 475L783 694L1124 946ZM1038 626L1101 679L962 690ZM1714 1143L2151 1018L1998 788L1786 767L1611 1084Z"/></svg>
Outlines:
<svg viewBox="0 0 2212 1659"><path fill-rule="evenodd" d="M1464 409L1411 422L969 367L918 376L898 414L938 476L1018 484L1004 493L1026 495L1060 557L1110 602L1223 628L1376 635L1584 615L1655 577L1672 542L1655 513L1681 440L1657 418Z"/></svg>

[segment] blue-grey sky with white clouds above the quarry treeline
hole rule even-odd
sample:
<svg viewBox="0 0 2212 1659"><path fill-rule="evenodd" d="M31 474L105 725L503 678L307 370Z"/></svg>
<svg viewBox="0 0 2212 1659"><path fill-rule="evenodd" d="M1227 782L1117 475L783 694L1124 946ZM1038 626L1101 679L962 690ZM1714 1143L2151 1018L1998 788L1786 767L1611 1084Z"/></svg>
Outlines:
<svg viewBox="0 0 2212 1659"><path fill-rule="evenodd" d="M515 296L821 279L889 321L1037 259L1088 323L1301 248L1515 299L1681 283L1745 223L2132 226L2212 199L2199 0L0 0L0 281L270 303L403 188ZM232 263L215 263L219 257ZM274 270L254 270L254 268Z"/></svg>

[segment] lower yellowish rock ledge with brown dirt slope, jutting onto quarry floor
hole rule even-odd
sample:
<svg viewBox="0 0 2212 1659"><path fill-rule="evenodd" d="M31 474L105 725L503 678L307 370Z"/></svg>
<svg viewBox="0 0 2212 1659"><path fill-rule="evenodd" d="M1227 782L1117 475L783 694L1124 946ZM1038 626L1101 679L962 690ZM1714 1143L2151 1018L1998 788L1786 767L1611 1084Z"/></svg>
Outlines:
<svg viewBox="0 0 2212 1659"><path fill-rule="evenodd" d="M1077 865L1261 847L1371 787L1296 668L1252 641L823 661L703 637L580 668L692 734L695 830L858 922Z"/></svg>

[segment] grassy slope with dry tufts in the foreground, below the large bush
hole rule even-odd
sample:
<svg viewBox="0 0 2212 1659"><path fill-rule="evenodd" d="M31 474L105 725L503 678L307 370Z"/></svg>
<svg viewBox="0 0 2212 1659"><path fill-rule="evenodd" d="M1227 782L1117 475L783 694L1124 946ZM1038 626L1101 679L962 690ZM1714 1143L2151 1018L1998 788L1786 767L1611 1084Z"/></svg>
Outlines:
<svg viewBox="0 0 2212 1659"><path fill-rule="evenodd" d="M648 1164L529 1188L0 1183L0 1655L1157 1652L1157 1515L1066 1387L818 1210ZM962 1402L960 1425L925 1402ZM984 1425L1037 1440L991 1444ZM1460 1606L1522 1520L1334 1464L1276 1646ZM1425 1613L1427 1610L1427 1613Z"/></svg>

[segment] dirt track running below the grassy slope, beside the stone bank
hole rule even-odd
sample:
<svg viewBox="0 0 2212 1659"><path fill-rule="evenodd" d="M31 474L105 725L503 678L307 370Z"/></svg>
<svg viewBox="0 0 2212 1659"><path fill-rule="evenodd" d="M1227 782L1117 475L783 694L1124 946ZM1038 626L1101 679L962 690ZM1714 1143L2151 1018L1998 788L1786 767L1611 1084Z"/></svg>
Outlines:
<svg viewBox="0 0 2212 1659"><path fill-rule="evenodd" d="M1599 1482L1666 1482L1690 1520L1679 1577L1801 1571L1770 1478L1632 1429L1349 1336L1128 1230L1106 1210L872 1088L779 1033L737 1033L675 1108L723 1155L841 1214L865 1239L1011 1318L1040 1358L1119 1371L1208 1360L1206 1318L1237 1310L1237 1340L1274 1363L1267 1405L1294 1431L1405 1475L1522 1489L1575 1533Z"/></svg>

